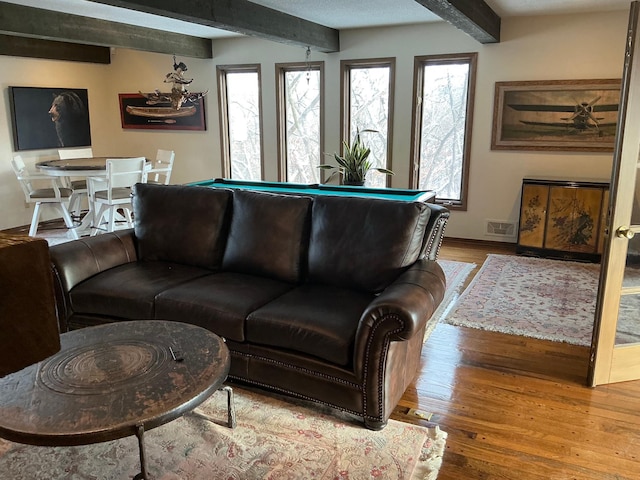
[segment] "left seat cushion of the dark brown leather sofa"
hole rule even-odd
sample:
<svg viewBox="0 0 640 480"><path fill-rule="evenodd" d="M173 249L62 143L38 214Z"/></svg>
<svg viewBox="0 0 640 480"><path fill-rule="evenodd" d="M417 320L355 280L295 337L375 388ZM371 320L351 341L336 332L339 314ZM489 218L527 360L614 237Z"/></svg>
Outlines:
<svg viewBox="0 0 640 480"><path fill-rule="evenodd" d="M69 292L74 312L126 319L153 319L158 293L210 274L168 262L131 262L105 270Z"/></svg>

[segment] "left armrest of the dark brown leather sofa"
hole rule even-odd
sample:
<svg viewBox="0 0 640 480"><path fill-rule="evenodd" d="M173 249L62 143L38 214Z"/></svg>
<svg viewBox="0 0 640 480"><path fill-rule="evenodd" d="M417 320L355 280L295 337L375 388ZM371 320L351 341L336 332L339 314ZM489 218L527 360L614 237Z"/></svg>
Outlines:
<svg viewBox="0 0 640 480"><path fill-rule="evenodd" d="M69 291L89 277L138 259L133 229L83 237L49 249L60 331L72 315Z"/></svg>

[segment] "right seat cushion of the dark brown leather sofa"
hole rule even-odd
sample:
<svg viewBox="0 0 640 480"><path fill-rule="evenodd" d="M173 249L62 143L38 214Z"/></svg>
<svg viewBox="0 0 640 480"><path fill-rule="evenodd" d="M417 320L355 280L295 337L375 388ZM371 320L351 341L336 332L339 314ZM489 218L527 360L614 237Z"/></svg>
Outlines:
<svg viewBox="0 0 640 480"><path fill-rule="evenodd" d="M360 317L373 298L329 285L302 285L249 315L247 341L350 366Z"/></svg>

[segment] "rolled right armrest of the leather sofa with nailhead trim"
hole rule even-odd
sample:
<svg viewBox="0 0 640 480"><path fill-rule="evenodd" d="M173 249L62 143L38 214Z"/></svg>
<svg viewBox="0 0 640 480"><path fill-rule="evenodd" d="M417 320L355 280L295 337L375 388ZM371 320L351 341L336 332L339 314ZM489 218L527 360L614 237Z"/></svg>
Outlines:
<svg viewBox="0 0 640 480"><path fill-rule="evenodd" d="M356 374L366 375L367 363L384 361L388 342L409 340L421 331L442 302L445 287L440 265L423 259L378 295L358 325L354 348Z"/></svg>

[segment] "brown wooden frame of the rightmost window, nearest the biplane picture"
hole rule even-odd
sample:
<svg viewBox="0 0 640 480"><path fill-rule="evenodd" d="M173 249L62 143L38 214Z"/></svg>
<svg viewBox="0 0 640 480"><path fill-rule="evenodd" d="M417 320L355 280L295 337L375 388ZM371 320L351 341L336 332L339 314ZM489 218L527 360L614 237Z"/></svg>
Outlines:
<svg viewBox="0 0 640 480"><path fill-rule="evenodd" d="M411 119L411 168L409 172L410 188L418 188L420 181L420 147L422 139L422 92L424 89L424 67L428 65L447 65L467 63L469 77L467 79L467 108L465 112L464 148L462 157L462 176L460 200L438 199L436 203L450 210L466 211L469 200L469 170L471 157L471 140L473 130L473 107L477 80L478 53L457 53L444 55L420 55L414 57L413 67L413 105ZM436 192L437 193L437 192Z"/></svg>

